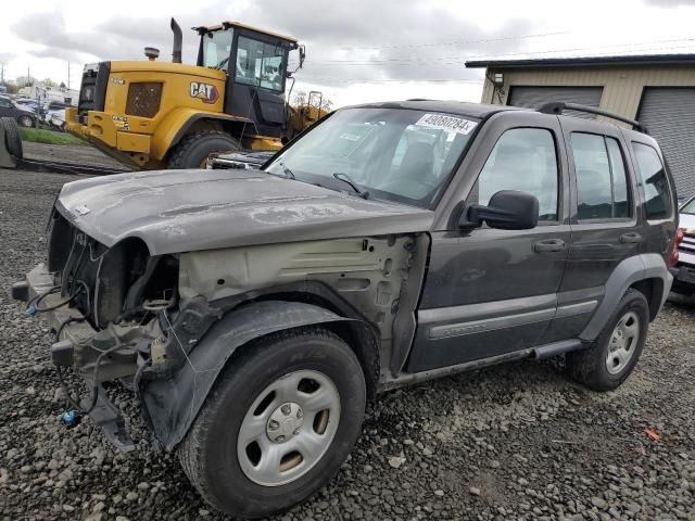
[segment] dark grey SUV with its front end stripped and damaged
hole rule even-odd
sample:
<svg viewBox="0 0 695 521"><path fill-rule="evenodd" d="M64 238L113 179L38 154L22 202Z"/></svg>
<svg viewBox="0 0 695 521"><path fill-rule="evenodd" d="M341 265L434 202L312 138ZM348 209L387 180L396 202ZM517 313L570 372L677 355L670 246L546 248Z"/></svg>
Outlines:
<svg viewBox="0 0 695 521"><path fill-rule="evenodd" d="M286 509L338 471L380 391L560 354L597 391L633 370L678 257L673 182L637 122L568 107L601 112L367 104L261 169L67 183L13 295L49 317L60 378L87 383L73 407L118 447L109 380L215 508Z"/></svg>

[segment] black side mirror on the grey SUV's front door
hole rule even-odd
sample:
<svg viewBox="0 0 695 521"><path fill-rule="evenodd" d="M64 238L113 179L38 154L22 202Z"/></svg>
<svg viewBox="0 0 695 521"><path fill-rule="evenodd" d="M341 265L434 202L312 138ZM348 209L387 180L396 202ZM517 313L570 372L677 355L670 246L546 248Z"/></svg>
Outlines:
<svg viewBox="0 0 695 521"><path fill-rule="evenodd" d="M539 200L530 193L501 190L490 198L488 206L464 208L458 226L477 228L483 221L500 230L530 230L539 224Z"/></svg>

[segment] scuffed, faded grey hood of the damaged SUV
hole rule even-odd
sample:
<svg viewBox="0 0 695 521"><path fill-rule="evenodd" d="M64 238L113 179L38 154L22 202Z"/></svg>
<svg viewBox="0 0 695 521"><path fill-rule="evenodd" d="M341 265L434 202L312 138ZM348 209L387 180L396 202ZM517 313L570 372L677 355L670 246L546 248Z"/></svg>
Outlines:
<svg viewBox="0 0 695 521"><path fill-rule="evenodd" d="M427 209L260 170L161 170L67 183L55 203L105 246L140 238L150 254L427 231Z"/></svg>

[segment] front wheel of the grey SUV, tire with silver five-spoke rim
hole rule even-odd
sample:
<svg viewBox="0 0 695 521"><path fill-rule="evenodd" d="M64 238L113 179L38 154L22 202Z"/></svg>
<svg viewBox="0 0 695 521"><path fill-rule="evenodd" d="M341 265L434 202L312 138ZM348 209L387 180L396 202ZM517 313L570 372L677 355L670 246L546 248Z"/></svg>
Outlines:
<svg viewBox="0 0 695 521"><path fill-rule="evenodd" d="M314 412L312 401L320 402ZM359 435L365 405L362 367L339 336L317 327L276 333L225 369L179 459L214 508L233 517L269 516L303 501L339 470ZM266 455L277 465L265 465Z"/></svg>

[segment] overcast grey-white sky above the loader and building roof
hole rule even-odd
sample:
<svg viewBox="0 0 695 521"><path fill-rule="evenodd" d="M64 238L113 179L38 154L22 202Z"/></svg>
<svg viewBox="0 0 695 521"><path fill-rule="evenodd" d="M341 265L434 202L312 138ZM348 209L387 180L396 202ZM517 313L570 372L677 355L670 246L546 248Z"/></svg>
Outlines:
<svg viewBox="0 0 695 521"><path fill-rule="evenodd" d="M84 63L143 59L144 46L169 60L175 16L184 61L188 30L236 20L293 35L306 45L296 90L321 90L337 106L438 98L479 101L482 71L467 59L695 52L695 0L34 0L0 16L5 77L79 84ZM137 13L137 14L136 14Z"/></svg>

